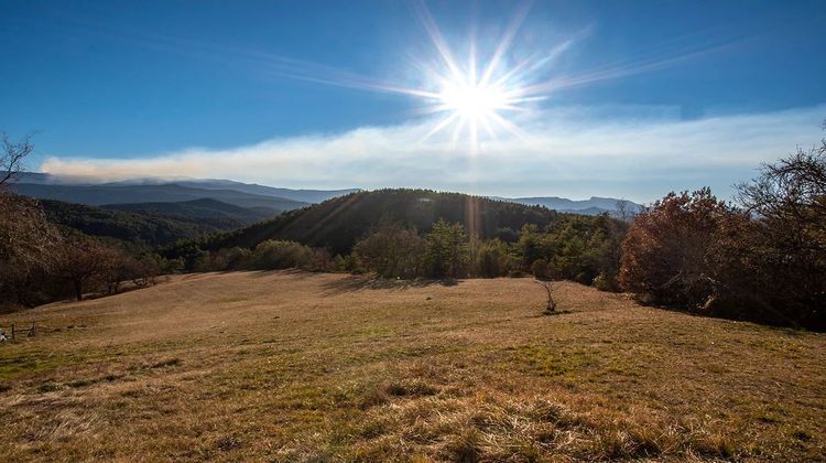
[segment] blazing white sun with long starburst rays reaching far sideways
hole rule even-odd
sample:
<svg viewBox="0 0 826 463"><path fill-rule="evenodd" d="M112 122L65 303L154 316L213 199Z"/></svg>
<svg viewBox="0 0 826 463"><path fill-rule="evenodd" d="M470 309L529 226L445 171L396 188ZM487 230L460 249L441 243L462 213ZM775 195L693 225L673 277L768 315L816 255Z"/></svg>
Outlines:
<svg viewBox="0 0 826 463"><path fill-rule="evenodd" d="M421 122L416 125L422 129L417 143L439 134L437 141L452 142L452 149L457 142L467 141L469 152L476 154L508 139L533 146L532 131L520 126L537 121L543 110L554 104L553 96L561 91L660 69L717 50L689 47L676 50L677 54L639 55L570 74L570 61L561 62L561 56L586 37L591 28L556 36L553 42L522 40L519 31L530 6L531 1L523 2L501 31L492 28L478 34L475 25L468 39L456 42L454 37L454 44L458 45L454 50L442 35L426 2L412 0L411 7L425 32L423 37L430 39L433 50L416 49L407 65L399 66L403 78L387 80L290 58L268 64L280 76L415 98L416 104L407 115ZM482 37L481 44L478 37ZM424 118L427 120L422 121Z"/></svg>

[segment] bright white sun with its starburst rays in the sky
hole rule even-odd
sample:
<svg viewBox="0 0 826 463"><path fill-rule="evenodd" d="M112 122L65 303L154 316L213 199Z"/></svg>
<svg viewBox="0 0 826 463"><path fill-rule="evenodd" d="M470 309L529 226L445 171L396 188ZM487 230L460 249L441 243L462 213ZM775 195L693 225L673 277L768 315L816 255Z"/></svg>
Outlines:
<svg viewBox="0 0 826 463"><path fill-rule="evenodd" d="M421 125L419 142L441 134L441 142L446 140L453 146L467 141L472 154L480 152L488 141L515 137L530 142L530 137L517 122L530 121L532 111L541 109L551 91L602 78L602 74L591 73L578 79L545 79L551 64L568 49L572 40L536 50L524 46L513 50L530 3L518 9L508 25L488 37L490 40L482 46L476 33L466 41L459 39L459 44L465 46L460 46L458 53L448 46L425 2L411 4L435 53L416 53L409 63L405 80L384 80L293 62L289 63L285 74L327 85L414 97L419 104L411 112L428 118ZM319 71L324 71L324 75L318 74ZM445 132L452 134L445 136Z"/></svg>

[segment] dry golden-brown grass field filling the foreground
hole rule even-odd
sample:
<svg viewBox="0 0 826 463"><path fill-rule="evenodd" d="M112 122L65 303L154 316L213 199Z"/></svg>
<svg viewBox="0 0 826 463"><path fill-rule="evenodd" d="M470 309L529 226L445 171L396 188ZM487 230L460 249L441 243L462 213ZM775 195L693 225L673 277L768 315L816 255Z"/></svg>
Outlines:
<svg viewBox="0 0 826 463"><path fill-rule="evenodd" d="M826 336L529 279L175 277L0 316L0 460L826 460Z"/></svg>

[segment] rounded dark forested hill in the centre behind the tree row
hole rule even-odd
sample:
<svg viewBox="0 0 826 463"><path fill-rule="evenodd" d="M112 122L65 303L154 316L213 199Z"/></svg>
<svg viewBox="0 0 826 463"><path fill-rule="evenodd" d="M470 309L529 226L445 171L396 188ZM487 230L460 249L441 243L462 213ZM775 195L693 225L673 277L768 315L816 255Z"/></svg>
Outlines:
<svg viewBox="0 0 826 463"><path fill-rule="evenodd" d="M166 249L181 256L193 247L217 250L230 247L252 248L267 239L289 239L307 246L347 254L382 219L427 232L439 218L461 223L469 233L482 238L511 234L525 224L544 227L558 213L542 206L502 202L460 193L430 190L378 190L328 200L315 206L295 209L267 222L235 232L221 233L178 244Z"/></svg>

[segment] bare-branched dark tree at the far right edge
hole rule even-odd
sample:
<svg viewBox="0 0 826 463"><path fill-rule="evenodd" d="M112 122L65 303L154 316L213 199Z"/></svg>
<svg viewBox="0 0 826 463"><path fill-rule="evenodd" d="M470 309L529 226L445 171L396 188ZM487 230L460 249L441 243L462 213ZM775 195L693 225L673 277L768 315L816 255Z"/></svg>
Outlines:
<svg viewBox="0 0 826 463"><path fill-rule="evenodd" d="M749 267L762 299L789 319L826 326L826 140L763 164L737 187L756 225Z"/></svg>

